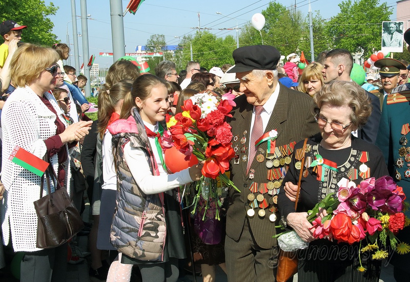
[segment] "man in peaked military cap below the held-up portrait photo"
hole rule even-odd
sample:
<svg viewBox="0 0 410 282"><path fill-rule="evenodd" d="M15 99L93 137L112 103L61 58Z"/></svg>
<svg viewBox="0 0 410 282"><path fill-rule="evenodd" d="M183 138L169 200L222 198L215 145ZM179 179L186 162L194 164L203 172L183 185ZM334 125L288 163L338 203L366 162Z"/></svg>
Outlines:
<svg viewBox="0 0 410 282"><path fill-rule="evenodd" d="M380 79L383 84L383 89L375 89L370 91L380 99L380 109L383 108L384 96L390 94L393 88L399 85L400 70L406 69L406 66L395 59L384 58L375 62L376 67L380 67Z"/></svg>

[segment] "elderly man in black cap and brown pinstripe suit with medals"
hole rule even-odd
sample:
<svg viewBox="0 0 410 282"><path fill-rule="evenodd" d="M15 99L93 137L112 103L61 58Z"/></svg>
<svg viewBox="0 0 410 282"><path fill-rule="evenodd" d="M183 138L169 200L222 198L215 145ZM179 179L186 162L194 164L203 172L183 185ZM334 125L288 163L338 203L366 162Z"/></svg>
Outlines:
<svg viewBox="0 0 410 282"><path fill-rule="evenodd" d="M274 281L277 267L277 194L299 140L318 133L313 100L278 82L280 54L269 45L233 52L239 91L230 125L236 152L231 179L225 256L228 281ZM269 145L269 147L268 147Z"/></svg>

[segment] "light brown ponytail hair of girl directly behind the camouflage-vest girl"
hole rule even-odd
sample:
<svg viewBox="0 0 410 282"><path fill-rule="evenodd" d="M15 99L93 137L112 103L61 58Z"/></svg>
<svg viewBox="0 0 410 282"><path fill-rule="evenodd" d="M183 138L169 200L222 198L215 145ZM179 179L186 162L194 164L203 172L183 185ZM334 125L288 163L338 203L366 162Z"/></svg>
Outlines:
<svg viewBox="0 0 410 282"><path fill-rule="evenodd" d="M129 96L132 82L132 80L120 81L114 84L111 89L104 90L98 94L98 134L101 138L104 136L112 113L115 112L115 106L119 100ZM128 116L130 116L130 111ZM128 116L123 116L121 111L120 119L127 119Z"/></svg>

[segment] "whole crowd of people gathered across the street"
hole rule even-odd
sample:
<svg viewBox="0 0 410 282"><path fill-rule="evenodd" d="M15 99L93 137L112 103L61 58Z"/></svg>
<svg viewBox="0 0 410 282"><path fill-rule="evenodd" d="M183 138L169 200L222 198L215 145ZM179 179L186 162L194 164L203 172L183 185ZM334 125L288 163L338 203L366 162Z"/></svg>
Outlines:
<svg viewBox="0 0 410 282"><path fill-rule="evenodd" d="M357 271L358 252L328 253L342 244L316 240L306 216L338 191L341 179L356 184L364 179L350 173L359 170L363 154L366 178L390 175L410 193L408 62L380 59L375 63L380 71L359 85L351 79L354 61L345 49L322 52L303 69L296 53L282 65L284 56L269 45L240 47L233 52L234 65L209 71L190 61L178 73L174 62L164 60L155 75L141 75L135 62L120 59L110 66L104 86L93 92L98 119L91 121L81 92L87 77L63 63L69 46L21 44L25 28L13 20L0 25L0 208L6 246L0 244L0 268L6 265L6 248L24 252L23 282L65 281L67 263L83 263L87 256L90 276L109 282L130 281L132 273L141 281L177 281L192 264L200 265L207 282L216 280L217 266L228 281L274 281L279 253L274 236L283 224L309 242L299 253L300 281L379 280L381 260L360 262L367 271ZM410 30L404 39L410 43ZM228 117L235 151L230 179L240 193L231 187L223 195L217 244L198 236L191 207L181 209L179 187L200 179L203 162L170 173L161 142L166 115L180 114L184 101L199 92L233 95L236 103ZM267 143L256 142L272 130L278 150L270 155ZM300 169L300 154L294 152L305 146L310 149L304 155L320 155L334 169L322 177L312 166ZM10 155L18 147L47 161L56 179L45 181L13 162ZM90 222L69 243L40 249L33 202L41 187L47 194L47 183L54 192L55 181L80 213L88 199ZM255 183L275 189L265 193L253 189ZM252 205L256 198L269 208ZM88 249L78 246L84 235ZM398 237L408 243L409 227ZM313 252L320 253L318 259L312 259ZM396 281L405 281L410 255L392 254L391 263Z"/></svg>

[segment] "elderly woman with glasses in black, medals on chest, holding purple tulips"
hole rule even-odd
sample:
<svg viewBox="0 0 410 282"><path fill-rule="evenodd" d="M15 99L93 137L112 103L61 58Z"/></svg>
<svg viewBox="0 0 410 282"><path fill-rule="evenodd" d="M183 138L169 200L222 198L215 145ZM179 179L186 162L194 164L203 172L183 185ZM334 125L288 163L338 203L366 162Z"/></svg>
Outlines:
<svg viewBox="0 0 410 282"><path fill-rule="evenodd" d="M308 210L327 194L338 192L340 180L359 184L365 178L388 175L382 152L352 134L366 123L371 104L364 89L345 81L325 84L313 99L321 136L308 139L304 165L301 163L304 141L295 145L278 195L282 222L292 227L303 241L310 242L307 249L299 251L298 278L302 281L378 281L380 261L370 258L363 261L363 255L362 263L367 271L357 271L359 245L315 240L315 228L306 220ZM321 161L314 162L318 159ZM321 166L323 163L326 166ZM303 176L300 201L295 210L300 173ZM325 211L320 213L325 215Z"/></svg>

